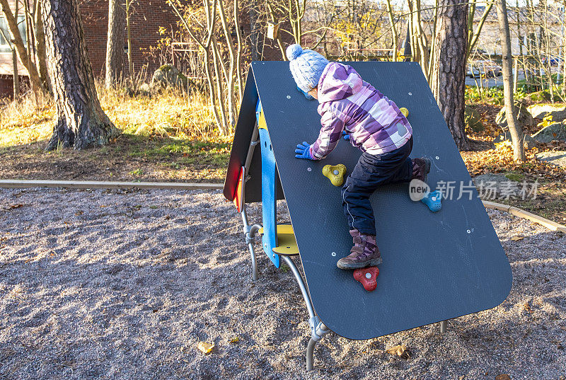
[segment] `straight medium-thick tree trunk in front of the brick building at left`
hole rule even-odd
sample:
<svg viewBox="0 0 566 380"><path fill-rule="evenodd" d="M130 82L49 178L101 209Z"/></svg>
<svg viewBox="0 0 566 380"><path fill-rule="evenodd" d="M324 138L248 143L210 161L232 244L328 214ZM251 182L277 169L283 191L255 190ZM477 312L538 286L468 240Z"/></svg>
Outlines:
<svg viewBox="0 0 566 380"><path fill-rule="evenodd" d="M124 79L126 12L120 4L120 0L110 0L108 3L105 86L106 88L113 88Z"/></svg>

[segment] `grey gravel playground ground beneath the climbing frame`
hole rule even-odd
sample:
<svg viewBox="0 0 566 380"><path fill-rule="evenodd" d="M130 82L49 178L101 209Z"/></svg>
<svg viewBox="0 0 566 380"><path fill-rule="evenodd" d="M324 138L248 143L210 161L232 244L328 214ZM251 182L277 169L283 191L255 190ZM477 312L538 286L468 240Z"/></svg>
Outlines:
<svg viewBox="0 0 566 380"><path fill-rule="evenodd" d="M307 373L299 288L265 255L250 281L220 192L0 189L0 378L565 379L566 238L488 213L513 268L503 304L444 335L329 334ZM385 352L400 344L408 359Z"/></svg>

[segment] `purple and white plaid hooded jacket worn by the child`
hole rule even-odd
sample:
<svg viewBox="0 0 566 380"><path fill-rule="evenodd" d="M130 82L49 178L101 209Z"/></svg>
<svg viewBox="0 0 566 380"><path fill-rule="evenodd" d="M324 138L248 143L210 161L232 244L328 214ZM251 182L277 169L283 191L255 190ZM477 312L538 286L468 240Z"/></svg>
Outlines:
<svg viewBox="0 0 566 380"><path fill-rule="evenodd" d="M369 154L383 154L400 148L412 136L407 118L389 100L350 66L330 62L318 81L320 133L311 145L311 156L328 156L342 137Z"/></svg>

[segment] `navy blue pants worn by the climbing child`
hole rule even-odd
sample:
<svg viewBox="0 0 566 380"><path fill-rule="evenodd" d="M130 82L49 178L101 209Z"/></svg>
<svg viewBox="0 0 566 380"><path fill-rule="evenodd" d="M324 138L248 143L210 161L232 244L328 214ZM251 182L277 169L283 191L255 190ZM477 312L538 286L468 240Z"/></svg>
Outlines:
<svg viewBox="0 0 566 380"><path fill-rule="evenodd" d="M403 146L384 154L363 153L342 188L342 206L350 229L376 234L376 219L369 197L381 185L410 182L412 163L409 154L412 137Z"/></svg>

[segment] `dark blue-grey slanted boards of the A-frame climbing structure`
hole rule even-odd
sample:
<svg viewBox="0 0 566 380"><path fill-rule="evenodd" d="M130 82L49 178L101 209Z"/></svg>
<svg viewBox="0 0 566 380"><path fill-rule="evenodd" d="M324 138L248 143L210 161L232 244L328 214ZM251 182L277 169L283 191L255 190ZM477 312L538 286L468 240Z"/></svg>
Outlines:
<svg viewBox="0 0 566 380"><path fill-rule="evenodd" d="M383 257L377 289L366 292L351 271L336 267L337 260L350 252L352 240L340 188L322 174L328 163L343 163L350 173L360 152L341 141L323 161L295 159L296 144L312 143L318 136L320 116L316 100L306 100L296 90L288 62L251 65L224 195L233 199L259 94L282 184L282 193L275 195L287 200L308 290L316 313L330 330L346 338L368 339L497 306L511 289L509 261L419 65L351 65L399 107L408 108L415 139L411 156L432 158L433 190L446 183L455 189L437 213L412 202L406 184L388 185L372 195ZM260 156L256 150L247 202L261 200Z"/></svg>

